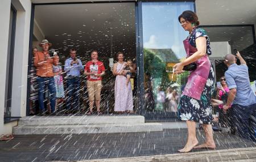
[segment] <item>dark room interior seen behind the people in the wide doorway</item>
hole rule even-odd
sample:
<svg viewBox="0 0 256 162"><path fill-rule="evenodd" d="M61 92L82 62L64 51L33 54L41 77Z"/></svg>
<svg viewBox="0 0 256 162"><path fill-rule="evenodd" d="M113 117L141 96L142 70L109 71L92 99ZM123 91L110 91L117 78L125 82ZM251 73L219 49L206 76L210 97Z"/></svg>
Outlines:
<svg viewBox="0 0 256 162"><path fill-rule="evenodd" d="M54 15L54 16L52 16ZM123 52L125 61L130 59L136 65L136 33L135 33L135 2L103 2L102 3L49 3L35 5L34 31L32 45L42 50L39 43L46 38L52 43L51 49L58 52L60 66L64 69L65 61L69 59L69 50L76 49L77 55L85 66L90 61L92 50L98 51L98 59L104 63L106 75L102 78L101 111L104 114L114 112L114 84L112 63L117 62L118 52ZM27 111L38 112L38 83L36 82L36 68L33 58L30 59L28 72L28 100ZM67 71L63 70L63 85L65 97L60 98L56 105L61 113L67 108L68 86ZM86 87L86 76L80 71L81 84L79 90L79 105L77 113L84 114L88 110L89 99ZM131 84L135 94L137 89L136 74L131 76ZM71 88L72 89L72 88ZM47 91L44 104L49 105ZM134 95L135 96L135 95ZM136 97L136 96L135 96ZM135 98L134 97L134 98ZM72 99L72 97L70 97ZM45 106L46 107L46 106ZM48 106L49 107L49 106ZM30 111L31 110L31 111ZM28 113L29 114L29 113Z"/></svg>

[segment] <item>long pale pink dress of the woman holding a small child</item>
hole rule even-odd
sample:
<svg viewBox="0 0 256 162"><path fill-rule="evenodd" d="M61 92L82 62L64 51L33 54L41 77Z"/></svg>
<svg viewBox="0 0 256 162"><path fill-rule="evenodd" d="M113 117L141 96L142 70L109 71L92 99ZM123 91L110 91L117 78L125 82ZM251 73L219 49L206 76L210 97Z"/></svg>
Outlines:
<svg viewBox="0 0 256 162"><path fill-rule="evenodd" d="M117 72L122 71L124 63L117 62ZM126 86L126 77L117 75L115 78L115 112L125 112L126 110L133 110L133 92L131 89L131 82Z"/></svg>

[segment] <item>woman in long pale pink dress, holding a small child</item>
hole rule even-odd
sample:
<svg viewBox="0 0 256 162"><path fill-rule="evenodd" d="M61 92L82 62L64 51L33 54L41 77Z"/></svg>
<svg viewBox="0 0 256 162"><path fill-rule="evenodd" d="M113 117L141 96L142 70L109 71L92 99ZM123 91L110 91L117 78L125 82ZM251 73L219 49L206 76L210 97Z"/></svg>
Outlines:
<svg viewBox="0 0 256 162"><path fill-rule="evenodd" d="M124 70L126 62L123 61L123 53L118 52L118 62L114 63L113 75L115 78L115 106L114 111L118 113L133 113L133 92L131 82L126 85L126 74L131 72Z"/></svg>

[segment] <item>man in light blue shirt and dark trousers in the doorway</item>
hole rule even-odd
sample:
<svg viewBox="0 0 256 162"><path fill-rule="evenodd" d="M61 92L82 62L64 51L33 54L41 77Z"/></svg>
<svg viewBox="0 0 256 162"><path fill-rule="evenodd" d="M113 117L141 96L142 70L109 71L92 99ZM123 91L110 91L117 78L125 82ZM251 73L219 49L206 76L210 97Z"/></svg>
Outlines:
<svg viewBox="0 0 256 162"><path fill-rule="evenodd" d="M64 70L67 73L67 112L79 109L80 71L84 70L80 59L76 58L76 50L70 50L70 57L66 59ZM72 101L73 98L73 101Z"/></svg>

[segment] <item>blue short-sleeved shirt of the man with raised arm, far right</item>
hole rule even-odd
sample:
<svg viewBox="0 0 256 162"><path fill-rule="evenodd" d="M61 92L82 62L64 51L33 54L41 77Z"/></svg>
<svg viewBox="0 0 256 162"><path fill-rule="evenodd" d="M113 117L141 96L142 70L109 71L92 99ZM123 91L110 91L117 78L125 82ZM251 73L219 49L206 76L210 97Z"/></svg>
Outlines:
<svg viewBox="0 0 256 162"><path fill-rule="evenodd" d="M233 104L249 106L256 103L256 96L250 86L247 65L237 65L233 63L225 72L225 78L229 89L237 89Z"/></svg>

